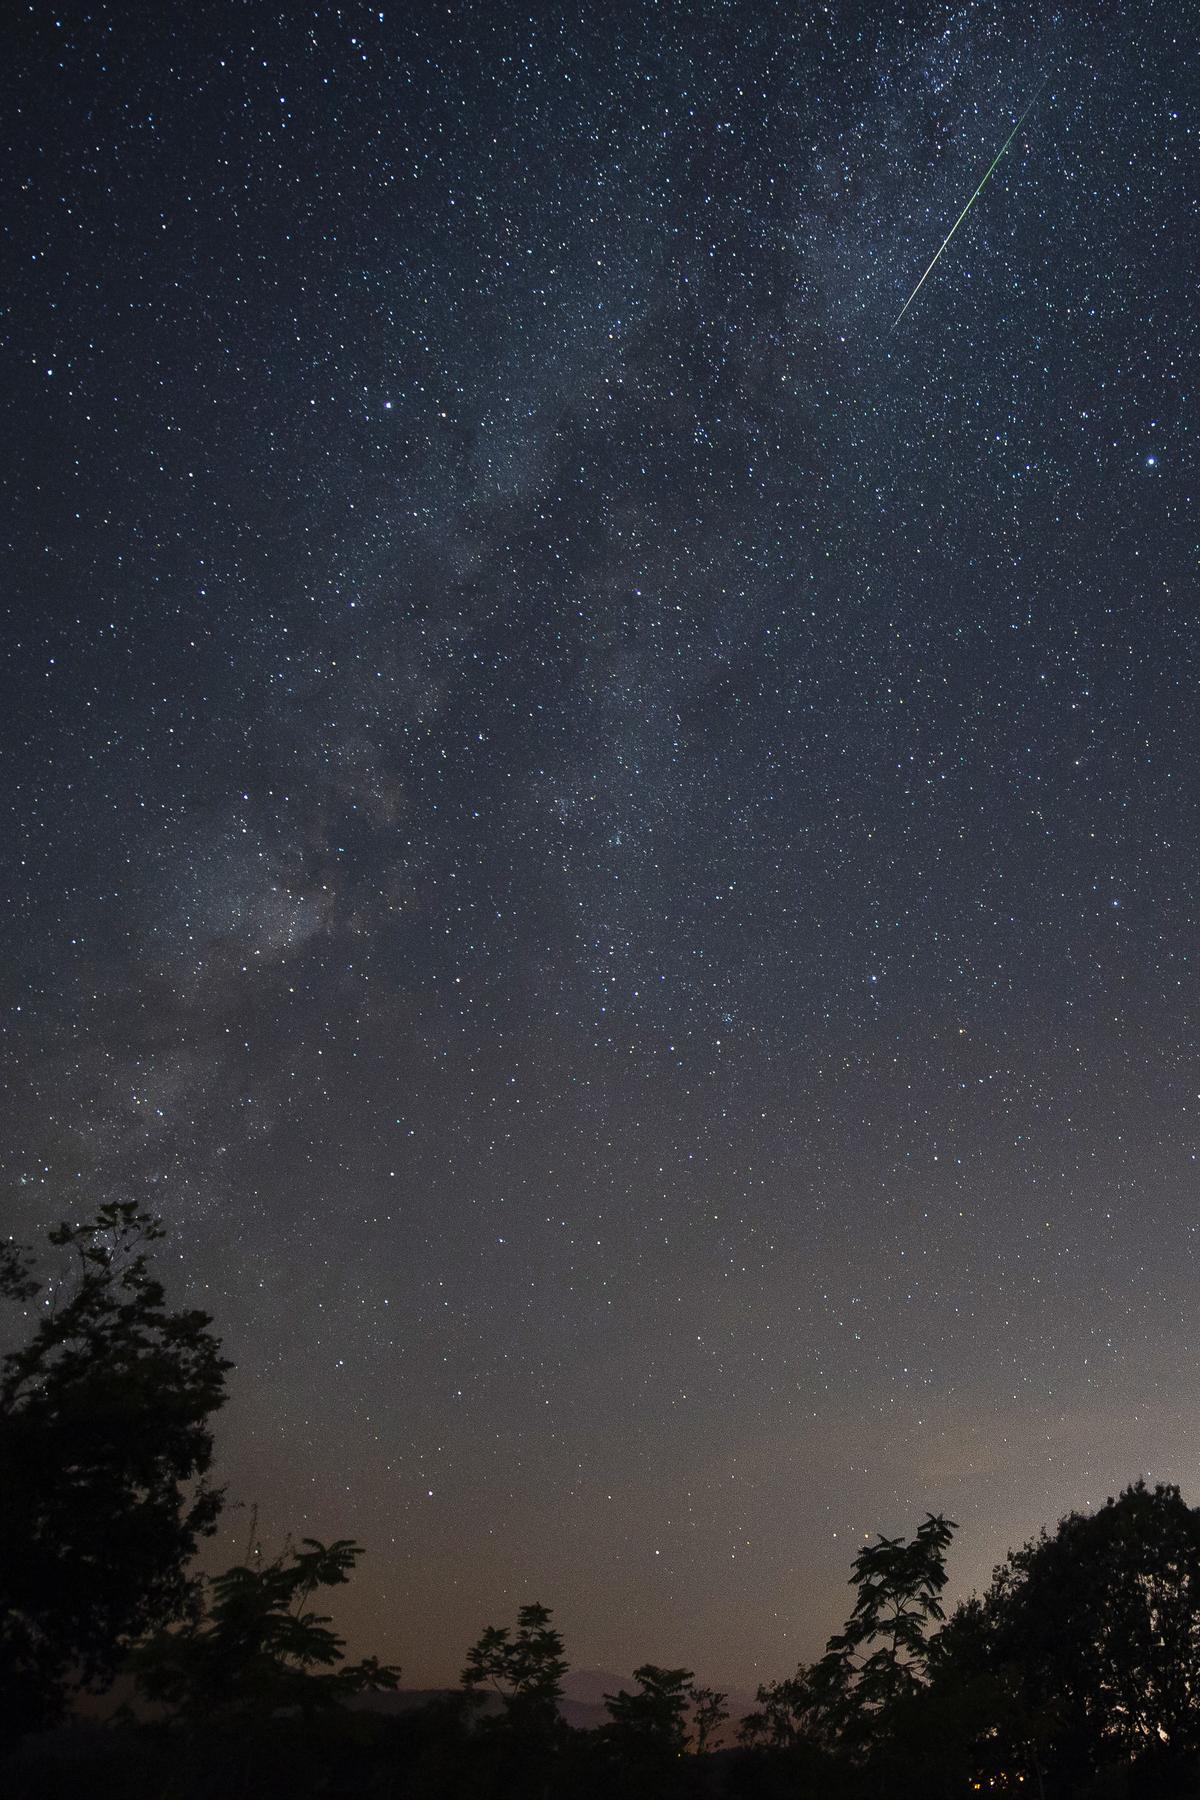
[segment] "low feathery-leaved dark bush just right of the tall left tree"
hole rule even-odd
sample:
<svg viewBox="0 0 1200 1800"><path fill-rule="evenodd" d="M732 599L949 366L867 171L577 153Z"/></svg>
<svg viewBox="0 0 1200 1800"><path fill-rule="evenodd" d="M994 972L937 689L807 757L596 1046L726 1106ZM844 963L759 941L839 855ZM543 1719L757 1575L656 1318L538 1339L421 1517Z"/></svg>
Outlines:
<svg viewBox="0 0 1200 1800"><path fill-rule="evenodd" d="M362 1550L340 1537L302 1539L261 1568L237 1564L212 1577L207 1607L140 1645L131 1669L140 1692L198 1723L230 1714L313 1714L353 1694L394 1688L399 1670L374 1656L344 1661L344 1640L309 1609L318 1588L338 1588Z"/></svg>

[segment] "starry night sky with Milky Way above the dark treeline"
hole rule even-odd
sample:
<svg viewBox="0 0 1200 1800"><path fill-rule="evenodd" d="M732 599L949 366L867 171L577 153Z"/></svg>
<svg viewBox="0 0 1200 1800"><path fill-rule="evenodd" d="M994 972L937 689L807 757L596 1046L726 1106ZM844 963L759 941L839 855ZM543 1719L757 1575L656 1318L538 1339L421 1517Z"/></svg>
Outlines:
<svg viewBox="0 0 1200 1800"><path fill-rule="evenodd" d="M164 1213L408 1685L1200 1498L1184 27L9 20L11 1228Z"/></svg>

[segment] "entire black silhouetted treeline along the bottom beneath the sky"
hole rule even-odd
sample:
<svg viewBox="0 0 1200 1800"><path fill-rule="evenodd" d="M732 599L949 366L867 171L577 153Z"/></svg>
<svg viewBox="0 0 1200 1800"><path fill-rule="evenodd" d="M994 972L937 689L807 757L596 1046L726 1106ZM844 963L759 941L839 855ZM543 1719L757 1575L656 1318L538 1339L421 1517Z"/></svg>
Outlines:
<svg viewBox="0 0 1200 1800"><path fill-rule="evenodd" d="M0 1247L0 1294L34 1321L0 1364L5 1796L1200 1796L1200 1510L1141 1481L950 1616L954 1521L867 1544L844 1629L741 1721L691 1670L646 1663L604 1724L572 1730L567 1649L534 1600L464 1651L457 1690L372 1710L399 1670L347 1661L320 1609L358 1544L194 1573L223 1505L210 1420L230 1364L207 1314L169 1309L157 1237L113 1204L50 1233L49 1278ZM81 1719L117 1676L137 1706Z"/></svg>

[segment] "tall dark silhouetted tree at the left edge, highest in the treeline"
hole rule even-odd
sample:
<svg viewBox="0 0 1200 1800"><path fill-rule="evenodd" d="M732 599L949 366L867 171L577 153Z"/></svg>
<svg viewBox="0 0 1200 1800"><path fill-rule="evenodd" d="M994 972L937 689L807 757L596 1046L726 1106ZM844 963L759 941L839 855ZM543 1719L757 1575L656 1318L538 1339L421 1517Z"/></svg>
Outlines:
<svg viewBox="0 0 1200 1800"><path fill-rule="evenodd" d="M0 1294L36 1301L0 1363L0 1741L104 1688L126 1647L191 1598L187 1564L221 1510L207 1485L225 1399L207 1312L171 1312L146 1251L162 1226L131 1202L49 1233L47 1283L0 1256Z"/></svg>

